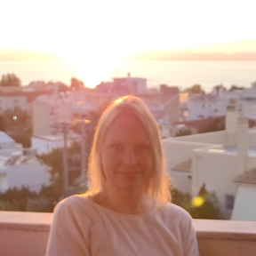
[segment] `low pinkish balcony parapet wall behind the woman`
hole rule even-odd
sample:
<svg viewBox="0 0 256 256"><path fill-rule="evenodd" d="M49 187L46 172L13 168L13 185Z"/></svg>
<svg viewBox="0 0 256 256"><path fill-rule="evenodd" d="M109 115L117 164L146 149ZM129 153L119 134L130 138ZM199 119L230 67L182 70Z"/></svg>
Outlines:
<svg viewBox="0 0 256 256"><path fill-rule="evenodd" d="M0 254L43 256L52 213L0 212ZM201 256L255 256L256 221L193 220Z"/></svg>

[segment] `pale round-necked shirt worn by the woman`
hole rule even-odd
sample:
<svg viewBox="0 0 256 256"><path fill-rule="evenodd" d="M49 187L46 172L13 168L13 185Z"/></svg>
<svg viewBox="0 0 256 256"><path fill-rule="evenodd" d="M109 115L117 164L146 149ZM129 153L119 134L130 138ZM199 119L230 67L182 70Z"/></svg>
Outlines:
<svg viewBox="0 0 256 256"><path fill-rule="evenodd" d="M47 256L198 256L191 217L175 204L141 214L113 212L86 196L54 209Z"/></svg>

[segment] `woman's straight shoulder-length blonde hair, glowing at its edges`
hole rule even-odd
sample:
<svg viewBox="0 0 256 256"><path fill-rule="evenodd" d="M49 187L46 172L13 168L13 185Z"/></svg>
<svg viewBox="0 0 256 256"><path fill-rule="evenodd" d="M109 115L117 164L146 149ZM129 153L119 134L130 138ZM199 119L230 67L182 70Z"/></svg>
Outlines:
<svg viewBox="0 0 256 256"><path fill-rule="evenodd" d="M152 178L148 181L145 194L157 202L171 201L171 193L165 177L165 160L161 146L158 125L146 104L137 97L124 96L112 102L100 117L99 125L94 134L92 150L88 164L89 189L85 194L92 196L95 201L101 201L106 196L105 178L100 162L100 151L104 135L108 127L117 116L132 115L136 116L145 131L152 145L154 168Z"/></svg>

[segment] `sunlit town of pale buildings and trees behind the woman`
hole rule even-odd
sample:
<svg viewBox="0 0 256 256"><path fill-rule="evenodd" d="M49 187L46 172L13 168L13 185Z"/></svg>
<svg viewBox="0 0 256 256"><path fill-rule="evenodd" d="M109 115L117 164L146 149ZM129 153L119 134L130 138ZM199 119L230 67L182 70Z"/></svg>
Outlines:
<svg viewBox="0 0 256 256"><path fill-rule="evenodd" d="M0 87L1 210L22 210L7 202L8 191L27 189L31 198L23 211L32 212L51 212L63 196L83 191L102 111L111 100L132 94L156 118L174 190L196 198L205 188L215 196L219 219L256 220L256 82L204 93L167 84L149 89L147 78L130 73L93 89L72 79L69 87L44 81Z"/></svg>

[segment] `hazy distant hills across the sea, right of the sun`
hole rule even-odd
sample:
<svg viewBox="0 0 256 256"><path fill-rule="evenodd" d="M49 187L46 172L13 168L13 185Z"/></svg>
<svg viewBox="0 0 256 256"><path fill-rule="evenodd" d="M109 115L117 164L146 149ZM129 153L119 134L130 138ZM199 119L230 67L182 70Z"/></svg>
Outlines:
<svg viewBox="0 0 256 256"><path fill-rule="evenodd" d="M129 61L222 61L256 60L256 52L174 52L146 51L137 52L122 58Z"/></svg>

